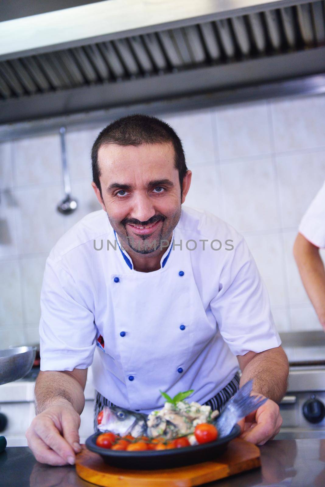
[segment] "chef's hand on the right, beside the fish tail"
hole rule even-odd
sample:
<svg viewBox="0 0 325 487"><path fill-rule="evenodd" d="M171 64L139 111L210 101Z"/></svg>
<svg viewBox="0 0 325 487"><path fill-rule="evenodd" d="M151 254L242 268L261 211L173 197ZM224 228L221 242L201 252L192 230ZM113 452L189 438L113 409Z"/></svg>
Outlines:
<svg viewBox="0 0 325 487"><path fill-rule="evenodd" d="M261 396L259 393L252 392L253 394ZM274 401L268 399L238 424L242 431L240 438L255 445L264 445L280 431L282 425L280 408Z"/></svg>

